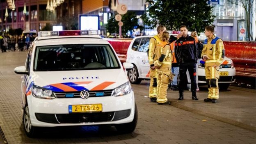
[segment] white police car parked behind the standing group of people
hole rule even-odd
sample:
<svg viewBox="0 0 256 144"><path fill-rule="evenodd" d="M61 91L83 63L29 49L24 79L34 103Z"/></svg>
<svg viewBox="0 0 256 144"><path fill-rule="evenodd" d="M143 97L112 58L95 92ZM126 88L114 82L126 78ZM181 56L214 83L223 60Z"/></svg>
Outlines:
<svg viewBox="0 0 256 144"><path fill-rule="evenodd" d="M178 33L174 34L169 31L171 35L176 36ZM139 36L135 37L127 50L126 62L132 63L133 69L128 71L128 78L132 84L139 84L142 80L149 80L149 40L153 36ZM200 37L199 37L200 38ZM199 39L204 41L204 39ZM221 89L227 89L230 83L235 82L235 67L231 59L228 57L224 58L222 65L219 67L220 78L219 87ZM205 71L204 71L204 61L200 60L199 69L197 72L199 84L206 85Z"/></svg>

